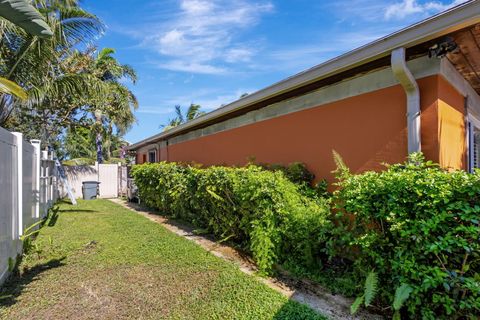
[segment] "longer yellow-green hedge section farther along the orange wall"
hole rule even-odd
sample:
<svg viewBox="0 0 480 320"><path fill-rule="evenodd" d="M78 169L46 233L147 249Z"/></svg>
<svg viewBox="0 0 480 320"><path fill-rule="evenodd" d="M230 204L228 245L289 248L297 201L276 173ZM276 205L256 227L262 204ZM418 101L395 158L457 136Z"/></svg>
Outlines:
<svg viewBox="0 0 480 320"><path fill-rule="evenodd" d="M132 175L145 204L239 245L263 272L287 260L312 267L324 255L328 200L305 196L281 171L161 162Z"/></svg>

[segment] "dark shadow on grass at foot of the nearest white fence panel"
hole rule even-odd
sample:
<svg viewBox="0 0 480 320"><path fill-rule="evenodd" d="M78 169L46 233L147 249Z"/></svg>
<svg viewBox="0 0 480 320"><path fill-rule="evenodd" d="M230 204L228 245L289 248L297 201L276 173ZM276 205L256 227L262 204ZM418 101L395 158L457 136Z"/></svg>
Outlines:
<svg viewBox="0 0 480 320"><path fill-rule="evenodd" d="M14 305L17 302L17 298L22 294L28 284L38 280L41 273L65 265L63 260L65 260L65 257L52 259L46 263L36 265L35 267L26 270L22 275L19 275L18 271L14 272L0 290L0 307Z"/></svg>

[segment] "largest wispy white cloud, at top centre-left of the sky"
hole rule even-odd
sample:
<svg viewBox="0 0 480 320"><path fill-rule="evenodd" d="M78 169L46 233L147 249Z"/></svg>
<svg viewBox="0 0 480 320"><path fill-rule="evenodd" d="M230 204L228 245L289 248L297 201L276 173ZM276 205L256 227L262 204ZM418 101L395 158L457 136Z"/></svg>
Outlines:
<svg viewBox="0 0 480 320"><path fill-rule="evenodd" d="M247 0L182 0L180 12L145 37L168 60L160 68L204 74L227 71L225 64L246 62L255 50L238 42L238 33L270 12L270 2Z"/></svg>

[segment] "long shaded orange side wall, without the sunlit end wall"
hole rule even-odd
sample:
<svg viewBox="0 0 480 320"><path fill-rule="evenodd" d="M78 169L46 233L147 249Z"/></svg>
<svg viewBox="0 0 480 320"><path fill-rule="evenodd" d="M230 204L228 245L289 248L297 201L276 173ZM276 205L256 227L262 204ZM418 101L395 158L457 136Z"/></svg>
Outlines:
<svg viewBox="0 0 480 320"><path fill-rule="evenodd" d="M419 81L422 108L436 102L436 77ZM169 147L169 161L205 165L303 162L317 179L332 180L332 150L354 172L401 162L407 155L406 97L400 86L260 121Z"/></svg>

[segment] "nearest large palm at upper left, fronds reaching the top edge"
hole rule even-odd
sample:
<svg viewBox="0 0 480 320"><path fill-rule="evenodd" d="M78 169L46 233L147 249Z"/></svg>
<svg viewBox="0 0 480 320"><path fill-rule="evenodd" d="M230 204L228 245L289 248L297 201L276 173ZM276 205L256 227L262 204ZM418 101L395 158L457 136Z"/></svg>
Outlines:
<svg viewBox="0 0 480 320"><path fill-rule="evenodd" d="M43 139L49 139L48 120L60 119L53 128L67 119L73 107L69 104L76 97L88 94L88 77L70 73L65 62L78 44L88 44L103 31L100 20L78 7L74 0L35 0L33 5L44 15L53 36L47 39L32 36L9 21L0 24L0 76L16 82L27 90L27 102L0 97L0 125L16 126L25 123L25 116L41 118ZM9 123L14 111L15 120ZM28 123L28 122L27 122ZM28 128L27 128L28 129Z"/></svg>

